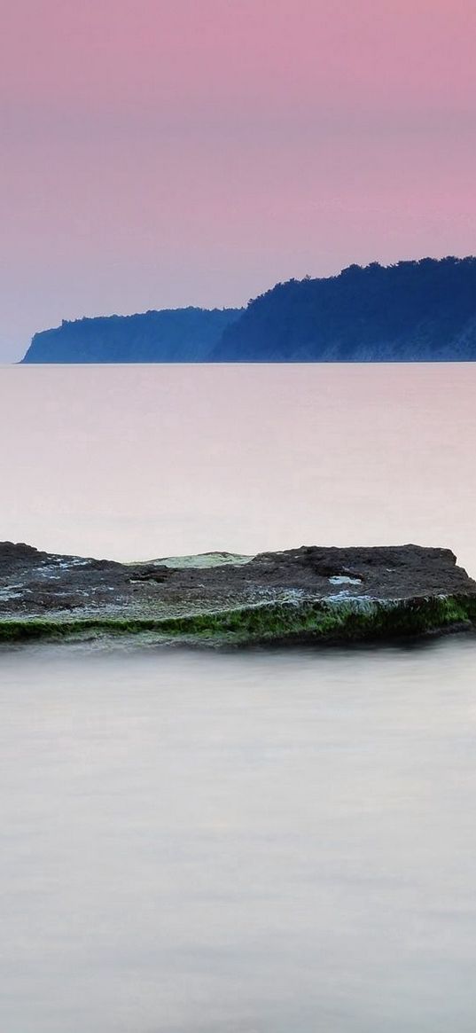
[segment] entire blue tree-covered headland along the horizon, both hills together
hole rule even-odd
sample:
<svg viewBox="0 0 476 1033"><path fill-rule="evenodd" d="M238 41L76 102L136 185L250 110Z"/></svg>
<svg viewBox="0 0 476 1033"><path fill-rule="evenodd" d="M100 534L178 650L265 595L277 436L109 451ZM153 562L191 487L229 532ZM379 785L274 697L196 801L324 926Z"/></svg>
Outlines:
<svg viewBox="0 0 476 1033"><path fill-rule="evenodd" d="M26 363L476 359L476 258L350 265L279 283L243 309L174 309L63 322Z"/></svg>

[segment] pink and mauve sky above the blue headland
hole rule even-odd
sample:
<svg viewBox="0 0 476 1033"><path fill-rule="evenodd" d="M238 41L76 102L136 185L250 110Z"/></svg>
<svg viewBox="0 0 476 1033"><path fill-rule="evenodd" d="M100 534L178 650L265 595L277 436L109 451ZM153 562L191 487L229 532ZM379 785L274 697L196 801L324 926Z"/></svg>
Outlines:
<svg viewBox="0 0 476 1033"><path fill-rule="evenodd" d="M0 361L476 250L474 0L0 0Z"/></svg>

